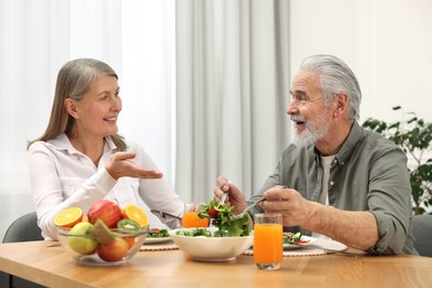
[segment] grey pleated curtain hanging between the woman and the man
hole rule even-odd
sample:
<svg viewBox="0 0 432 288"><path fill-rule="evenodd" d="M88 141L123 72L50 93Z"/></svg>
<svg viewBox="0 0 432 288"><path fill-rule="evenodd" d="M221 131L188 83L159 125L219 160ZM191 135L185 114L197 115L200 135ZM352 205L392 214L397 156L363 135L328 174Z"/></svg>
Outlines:
<svg viewBox="0 0 432 288"><path fill-rule="evenodd" d="M289 1L176 1L176 188L253 195L288 143Z"/></svg>

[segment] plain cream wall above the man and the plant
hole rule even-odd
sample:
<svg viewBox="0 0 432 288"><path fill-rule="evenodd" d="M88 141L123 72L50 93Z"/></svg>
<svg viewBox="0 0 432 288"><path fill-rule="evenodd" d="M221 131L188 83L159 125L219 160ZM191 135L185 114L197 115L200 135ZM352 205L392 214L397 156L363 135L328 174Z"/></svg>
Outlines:
<svg viewBox="0 0 432 288"><path fill-rule="evenodd" d="M432 122L432 1L291 0L291 74L306 55L330 53L357 74L366 117L407 112Z"/></svg>

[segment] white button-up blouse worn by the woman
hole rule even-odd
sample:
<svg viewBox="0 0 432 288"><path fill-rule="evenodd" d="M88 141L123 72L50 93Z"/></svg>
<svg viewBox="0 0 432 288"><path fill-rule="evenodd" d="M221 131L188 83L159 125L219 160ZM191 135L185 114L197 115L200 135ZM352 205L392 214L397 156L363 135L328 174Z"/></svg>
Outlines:
<svg viewBox="0 0 432 288"><path fill-rule="evenodd" d="M127 141L127 151L136 152L137 165L158 171L147 153L136 143ZM140 205L138 198L151 208L182 216L185 204L172 189L165 177L138 179L122 177L115 181L105 169L111 155L116 152L114 143L105 138L104 153L99 166L76 151L65 134L48 142L35 142L29 148L31 188L38 213L38 225L45 239L56 239L54 217L70 207L80 207L86 214L99 199L112 199L124 207ZM176 219L162 219L175 228Z"/></svg>

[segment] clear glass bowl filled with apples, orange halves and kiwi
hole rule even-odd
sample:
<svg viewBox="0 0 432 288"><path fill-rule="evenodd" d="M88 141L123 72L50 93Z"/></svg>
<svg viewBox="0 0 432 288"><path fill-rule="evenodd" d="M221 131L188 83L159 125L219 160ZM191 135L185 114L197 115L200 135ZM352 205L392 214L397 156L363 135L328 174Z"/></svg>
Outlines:
<svg viewBox="0 0 432 288"><path fill-rule="evenodd" d="M148 219L135 205L122 209L110 200L95 203L84 216L78 207L59 213L54 219L58 238L79 265L125 264L144 244Z"/></svg>

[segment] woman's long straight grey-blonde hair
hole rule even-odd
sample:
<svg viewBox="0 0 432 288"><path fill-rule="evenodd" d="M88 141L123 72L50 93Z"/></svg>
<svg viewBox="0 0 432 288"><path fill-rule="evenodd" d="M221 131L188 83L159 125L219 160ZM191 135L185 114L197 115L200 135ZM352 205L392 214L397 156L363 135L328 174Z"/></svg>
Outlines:
<svg viewBox="0 0 432 288"><path fill-rule="evenodd" d="M59 71L55 84L54 101L52 103L51 117L42 136L29 141L27 148L37 141L49 141L61 133L69 133L74 119L64 107L64 100L70 97L81 101L91 85L102 75L115 76L115 71L106 63L95 59L76 59L65 63ZM126 143L120 135L110 136L119 151L126 150Z"/></svg>

